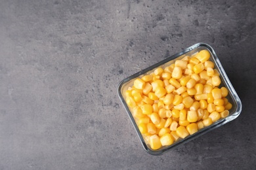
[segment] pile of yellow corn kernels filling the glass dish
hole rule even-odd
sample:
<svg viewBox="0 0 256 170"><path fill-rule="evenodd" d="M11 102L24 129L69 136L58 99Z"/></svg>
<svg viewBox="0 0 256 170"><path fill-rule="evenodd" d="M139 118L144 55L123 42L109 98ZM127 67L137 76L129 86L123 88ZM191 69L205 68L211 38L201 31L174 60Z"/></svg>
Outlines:
<svg viewBox="0 0 256 170"><path fill-rule="evenodd" d="M209 61L210 55L208 50L201 50L165 68L158 67L135 79L125 91L126 103L152 150L169 146L229 115L232 104L226 99L228 90L219 88L221 78Z"/></svg>

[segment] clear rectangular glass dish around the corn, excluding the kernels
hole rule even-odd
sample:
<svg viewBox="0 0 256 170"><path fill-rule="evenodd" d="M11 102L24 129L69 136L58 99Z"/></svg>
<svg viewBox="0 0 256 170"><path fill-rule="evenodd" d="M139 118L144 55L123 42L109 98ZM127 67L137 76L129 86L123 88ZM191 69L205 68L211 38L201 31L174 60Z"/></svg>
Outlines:
<svg viewBox="0 0 256 170"><path fill-rule="evenodd" d="M150 144L144 137L142 133L140 133L139 127L137 126L137 123L135 121L135 118L133 117L133 114L131 112L131 108L127 105L125 101L125 91L128 90L129 87L133 86L133 82L136 78L141 78L144 75L148 75L154 71L154 69L158 67L166 67L167 65L171 65L175 62L177 59L184 58L184 56L193 56L200 50L208 50L211 54L209 60L213 61L215 64L215 69L219 71L219 76L221 78L221 84L219 87L226 87L228 90L228 96L226 98L228 101L232 104L232 109L229 110L229 115L226 118L221 118L217 120L217 122L214 122L211 124L211 126L203 127L202 129L198 130L198 132L188 135L184 139L179 138L175 143L169 145L169 146L162 146L158 150L152 150L150 147ZM234 90L232 84L230 83L230 80L228 79L228 76L226 75L221 62L217 58L217 55L215 54L213 48L205 43L198 43L194 44L193 46L190 46L189 48L186 48L185 50L182 50L182 52L179 52L173 56L170 56L169 58L163 59L162 61L143 69L142 71L139 71L138 73L135 73L134 75L131 75L124 80L122 80L118 85L117 93L119 95L119 99L121 100L121 103L123 104L123 107L125 108L133 126L135 127L135 130L137 132L137 135L139 136L140 143L142 144L144 150L148 152L148 154L152 155L160 155L164 152L167 152L168 150L172 150L174 148L177 148L178 146L181 146L184 143L187 143L188 141L191 141L192 139L195 139L196 137L200 137L200 135L203 135L204 133L207 133L217 127L223 126L224 124L230 122L231 120L234 120L237 118L242 110L242 103L240 101L240 98L238 97L236 91Z"/></svg>

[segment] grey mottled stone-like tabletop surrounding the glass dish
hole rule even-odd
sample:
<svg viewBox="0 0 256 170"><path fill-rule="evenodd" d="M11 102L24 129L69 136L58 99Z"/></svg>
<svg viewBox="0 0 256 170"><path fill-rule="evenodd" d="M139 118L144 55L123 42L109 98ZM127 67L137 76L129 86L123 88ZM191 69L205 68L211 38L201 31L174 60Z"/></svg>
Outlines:
<svg viewBox="0 0 256 170"><path fill-rule="evenodd" d="M0 1L0 169L253 169L256 7L249 1ZM240 116L147 154L117 84L213 46Z"/></svg>

